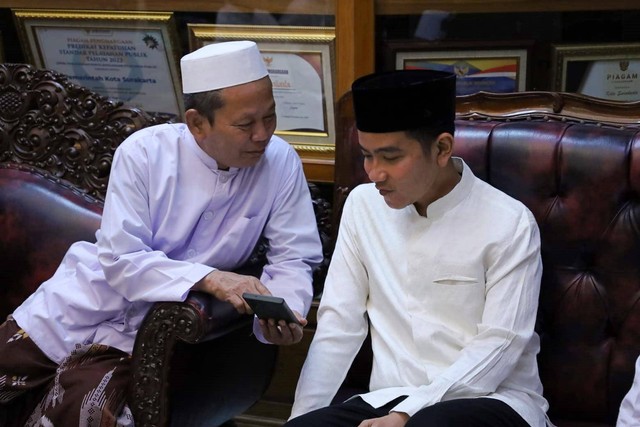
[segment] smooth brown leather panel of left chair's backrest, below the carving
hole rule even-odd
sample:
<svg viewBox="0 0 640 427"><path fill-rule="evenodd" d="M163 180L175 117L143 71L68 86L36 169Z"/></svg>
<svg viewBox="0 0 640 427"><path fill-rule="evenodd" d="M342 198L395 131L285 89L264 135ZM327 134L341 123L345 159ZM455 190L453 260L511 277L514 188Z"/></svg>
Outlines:
<svg viewBox="0 0 640 427"><path fill-rule="evenodd" d="M0 323L44 280L69 246L95 241L102 202L72 187L0 165Z"/></svg>

